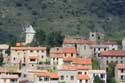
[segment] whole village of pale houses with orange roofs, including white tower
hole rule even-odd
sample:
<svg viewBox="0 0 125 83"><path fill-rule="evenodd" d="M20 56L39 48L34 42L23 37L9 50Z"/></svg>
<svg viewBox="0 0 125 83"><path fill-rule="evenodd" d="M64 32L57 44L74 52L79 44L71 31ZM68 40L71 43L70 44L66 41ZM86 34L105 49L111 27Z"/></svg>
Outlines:
<svg viewBox="0 0 125 83"><path fill-rule="evenodd" d="M65 37L61 47L28 46L36 34L26 29L25 42L0 45L3 64L0 83L125 83L125 40L105 40L105 33L90 32L89 38ZM112 82L115 83L115 82Z"/></svg>

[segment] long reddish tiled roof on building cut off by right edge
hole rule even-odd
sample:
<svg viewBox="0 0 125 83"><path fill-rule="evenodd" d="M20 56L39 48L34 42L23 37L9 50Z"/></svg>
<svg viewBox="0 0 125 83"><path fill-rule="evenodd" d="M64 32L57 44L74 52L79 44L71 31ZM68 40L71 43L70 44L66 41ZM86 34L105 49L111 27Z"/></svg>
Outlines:
<svg viewBox="0 0 125 83"><path fill-rule="evenodd" d="M103 51L101 52L101 56L112 56L112 57L125 56L125 51L124 50Z"/></svg>

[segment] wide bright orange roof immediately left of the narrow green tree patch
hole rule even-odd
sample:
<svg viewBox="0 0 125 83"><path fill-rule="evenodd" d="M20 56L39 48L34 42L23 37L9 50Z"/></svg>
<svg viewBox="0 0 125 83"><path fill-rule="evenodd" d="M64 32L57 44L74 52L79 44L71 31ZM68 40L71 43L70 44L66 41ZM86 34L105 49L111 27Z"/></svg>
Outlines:
<svg viewBox="0 0 125 83"><path fill-rule="evenodd" d="M90 58L74 58L73 63L82 64L82 65L90 65L90 64L92 64L92 61Z"/></svg>

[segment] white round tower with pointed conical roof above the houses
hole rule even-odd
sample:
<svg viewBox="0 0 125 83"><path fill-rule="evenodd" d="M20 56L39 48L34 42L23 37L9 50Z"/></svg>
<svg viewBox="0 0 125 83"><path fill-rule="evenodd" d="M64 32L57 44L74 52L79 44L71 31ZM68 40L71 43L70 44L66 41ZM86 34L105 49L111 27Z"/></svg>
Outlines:
<svg viewBox="0 0 125 83"><path fill-rule="evenodd" d="M33 29L33 27L30 25L26 27L26 38L25 38L25 43L30 44L33 41L33 38L35 36L36 31Z"/></svg>

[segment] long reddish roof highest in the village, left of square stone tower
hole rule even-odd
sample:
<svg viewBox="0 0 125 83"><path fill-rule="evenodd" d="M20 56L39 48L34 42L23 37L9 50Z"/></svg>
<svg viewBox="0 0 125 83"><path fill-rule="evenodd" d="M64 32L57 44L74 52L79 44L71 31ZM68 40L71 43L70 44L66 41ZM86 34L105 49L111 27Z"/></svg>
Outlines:
<svg viewBox="0 0 125 83"><path fill-rule="evenodd" d="M96 44L96 41L85 39L64 39L64 44Z"/></svg>

